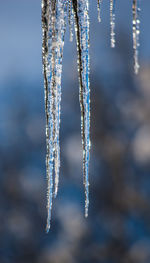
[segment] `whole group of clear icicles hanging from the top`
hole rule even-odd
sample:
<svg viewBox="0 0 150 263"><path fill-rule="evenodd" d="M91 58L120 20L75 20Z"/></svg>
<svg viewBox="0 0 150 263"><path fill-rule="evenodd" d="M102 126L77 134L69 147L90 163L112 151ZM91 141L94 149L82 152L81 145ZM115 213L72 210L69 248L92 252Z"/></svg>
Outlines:
<svg viewBox="0 0 150 263"><path fill-rule="evenodd" d="M138 73L139 1L133 1L134 70ZM102 0L97 1L98 21L101 21ZM50 229L53 196L57 196L60 169L61 75L66 19L69 20L70 41L76 35L83 148L83 182L85 186L85 216L89 206L90 158L90 84L89 84L89 0L42 0L43 74L46 112L47 225ZM75 30L73 30L75 27ZM110 0L111 47L115 47L115 0Z"/></svg>

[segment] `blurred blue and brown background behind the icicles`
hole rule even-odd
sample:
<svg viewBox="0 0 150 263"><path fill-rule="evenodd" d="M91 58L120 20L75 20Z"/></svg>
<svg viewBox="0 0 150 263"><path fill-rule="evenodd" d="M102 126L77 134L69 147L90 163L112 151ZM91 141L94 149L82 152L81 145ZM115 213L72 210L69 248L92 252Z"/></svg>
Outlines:
<svg viewBox="0 0 150 263"><path fill-rule="evenodd" d="M45 233L41 0L0 0L0 263L150 262L150 2L141 1L140 73L132 1L90 0L90 208L84 218L76 44L65 38L59 194Z"/></svg>

